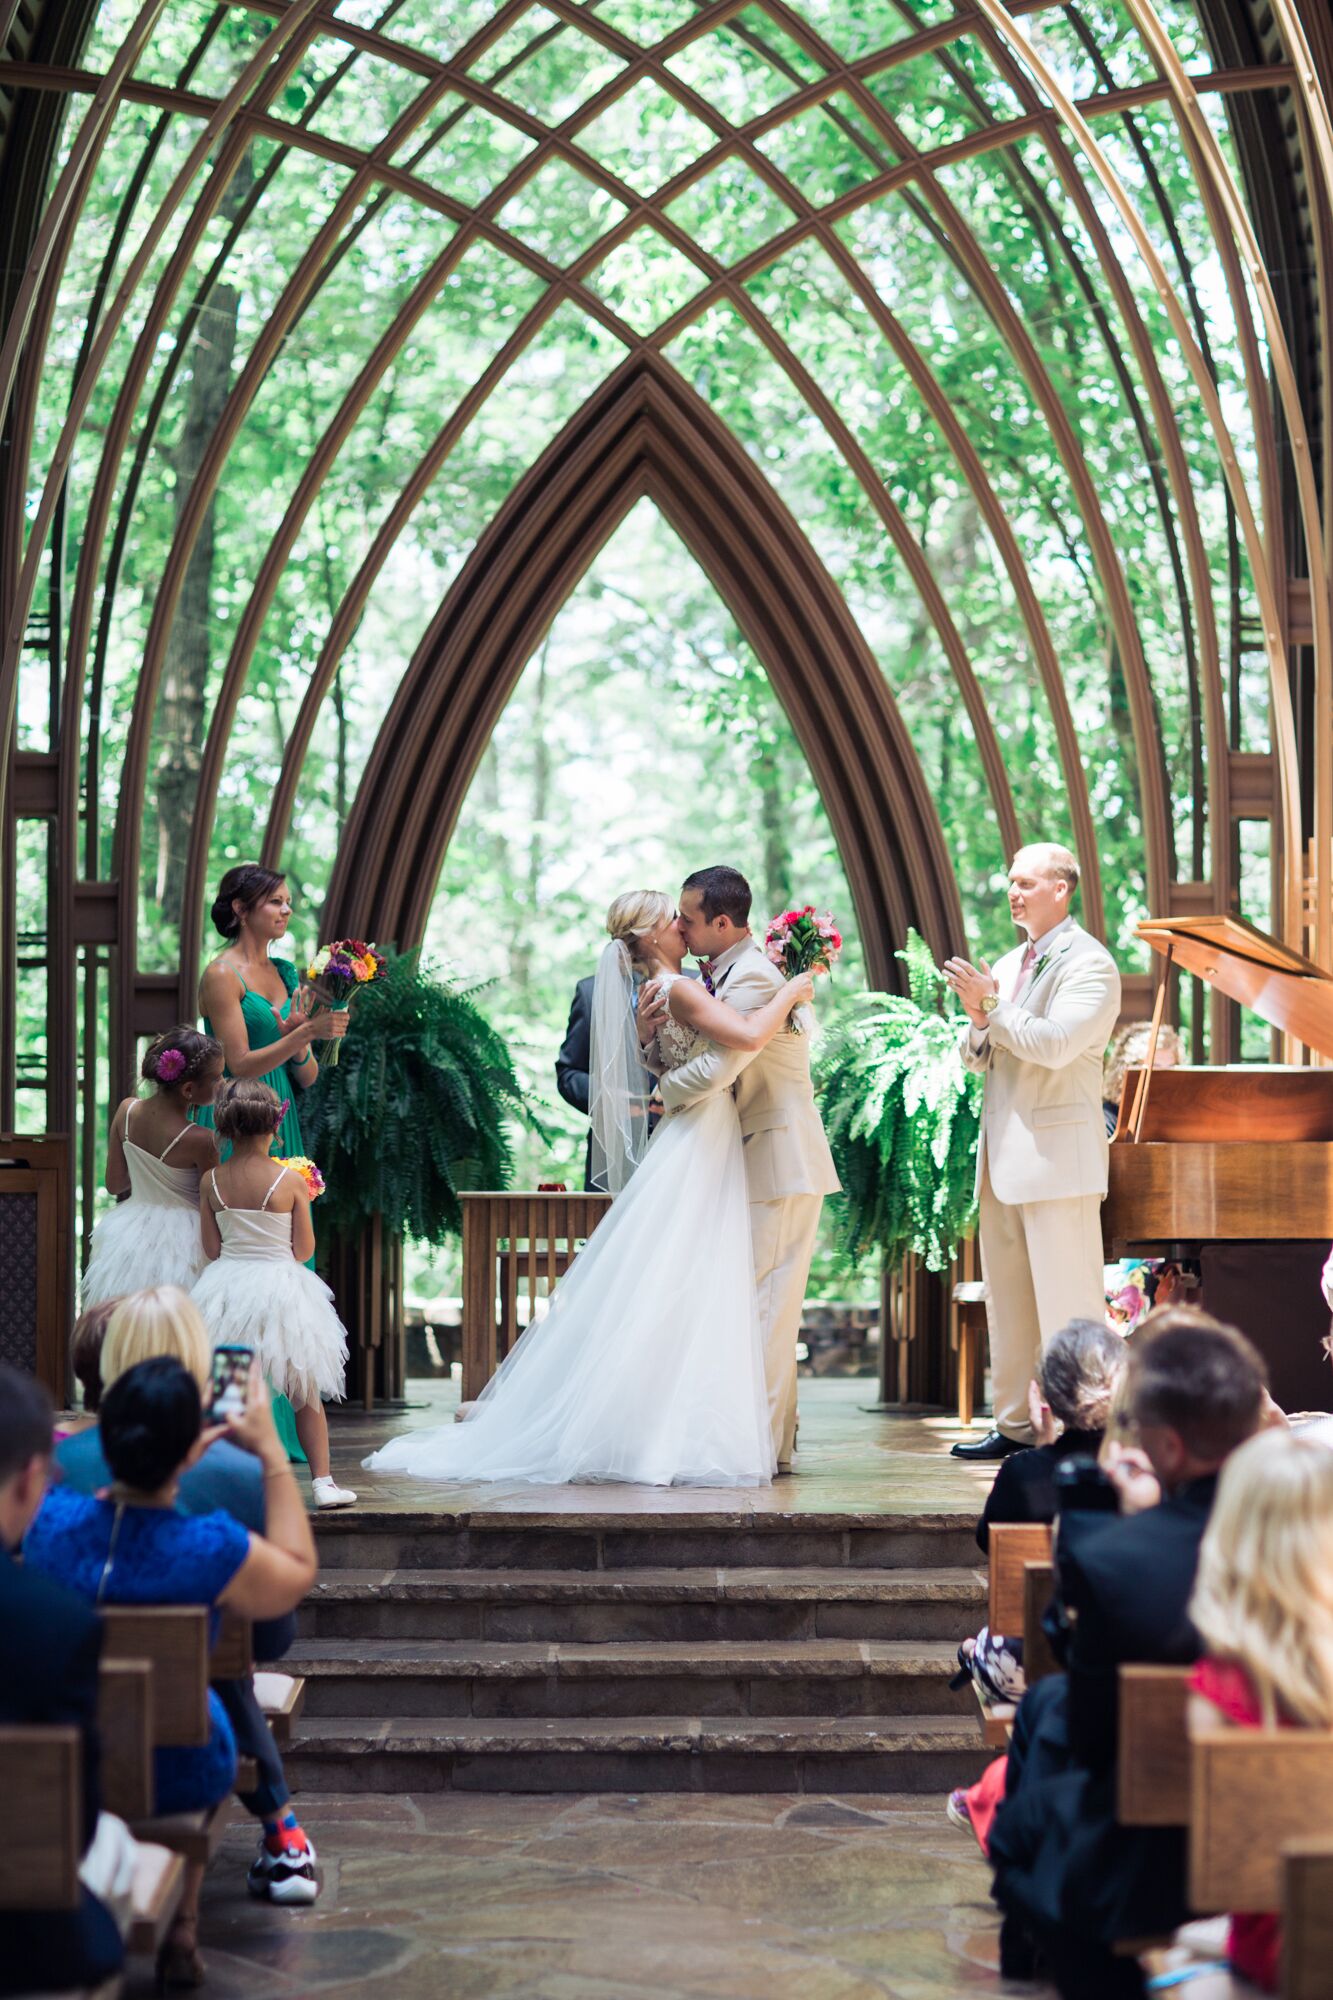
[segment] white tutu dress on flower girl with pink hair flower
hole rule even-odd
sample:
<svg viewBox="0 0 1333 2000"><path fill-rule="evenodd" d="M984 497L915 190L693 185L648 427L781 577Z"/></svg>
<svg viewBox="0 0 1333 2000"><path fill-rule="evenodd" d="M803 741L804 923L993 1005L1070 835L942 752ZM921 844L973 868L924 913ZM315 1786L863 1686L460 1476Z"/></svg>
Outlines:
<svg viewBox="0 0 1333 2000"><path fill-rule="evenodd" d="M80 1306L100 1306L152 1284L178 1284L188 1292L208 1258L198 1228L198 1168L168 1166L166 1156L144 1152L130 1138L132 1104L124 1116L124 1164L130 1170L130 1198L116 1202L92 1232L88 1270L78 1288ZM188 1126L186 1126L188 1130Z"/></svg>

